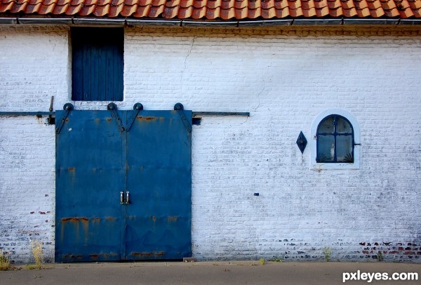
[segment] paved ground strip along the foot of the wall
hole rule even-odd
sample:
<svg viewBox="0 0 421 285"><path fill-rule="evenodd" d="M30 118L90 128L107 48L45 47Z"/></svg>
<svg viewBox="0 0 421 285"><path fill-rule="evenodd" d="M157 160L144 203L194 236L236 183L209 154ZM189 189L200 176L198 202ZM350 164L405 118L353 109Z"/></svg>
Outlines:
<svg viewBox="0 0 421 285"><path fill-rule="evenodd" d="M0 272L0 284L421 284L421 264L409 263L72 263ZM363 272L417 272L418 281L343 282ZM347 275L345 275L347 277ZM380 276L379 276L380 277Z"/></svg>

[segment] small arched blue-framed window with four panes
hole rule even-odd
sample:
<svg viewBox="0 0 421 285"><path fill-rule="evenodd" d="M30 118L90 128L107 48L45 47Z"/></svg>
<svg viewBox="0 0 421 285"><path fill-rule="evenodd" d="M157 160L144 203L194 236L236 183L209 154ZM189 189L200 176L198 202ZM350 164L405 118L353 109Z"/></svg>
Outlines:
<svg viewBox="0 0 421 285"><path fill-rule="evenodd" d="M354 163L354 128L338 114L325 117L316 131L316 162Z"/></svg>

